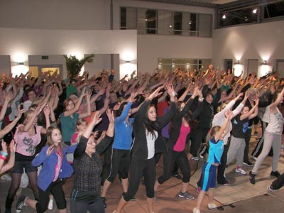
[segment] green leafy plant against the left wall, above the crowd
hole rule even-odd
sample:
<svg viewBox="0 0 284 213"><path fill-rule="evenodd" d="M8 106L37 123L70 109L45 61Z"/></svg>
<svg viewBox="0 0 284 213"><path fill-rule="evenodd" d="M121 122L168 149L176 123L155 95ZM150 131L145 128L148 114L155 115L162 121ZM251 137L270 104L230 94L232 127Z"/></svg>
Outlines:
<svg viewBox="0 0 284 213"><path fill-rule="evenodd" d="M86 62L93 62L94 60L94 54L88 55L81 60L79 60L75 55L70 55L70 57L68 57L67 55L63 56L65 58L67 72L71 75L72 78L79 74L80 70Z"/></svg>

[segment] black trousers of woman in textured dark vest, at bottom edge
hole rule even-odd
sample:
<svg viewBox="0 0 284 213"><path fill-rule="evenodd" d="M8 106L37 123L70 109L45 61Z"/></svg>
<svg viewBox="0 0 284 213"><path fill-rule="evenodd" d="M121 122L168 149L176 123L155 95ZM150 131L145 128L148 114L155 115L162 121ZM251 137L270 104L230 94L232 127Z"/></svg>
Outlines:
<svg viewBox="0 0 284 213"><path fill-rule="evenodd" d="M76 202L71 201L70 204L71 213L104 213L104 203L102 202L102 198L100 195L95 197L94 202Z"/></svg>

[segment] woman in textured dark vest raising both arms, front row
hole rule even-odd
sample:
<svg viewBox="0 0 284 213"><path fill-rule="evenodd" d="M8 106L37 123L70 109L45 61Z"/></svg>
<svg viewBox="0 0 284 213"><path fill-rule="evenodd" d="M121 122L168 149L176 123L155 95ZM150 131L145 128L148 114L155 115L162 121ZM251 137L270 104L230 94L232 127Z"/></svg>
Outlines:
<svg viewBox="0 0 284 213"><path fill-rule="evenodd" d="M104 203L100 196L102 179L102 160L100 154L114 138L114 114L107 110L109 126L106 136L97 144L92 130L102 119L96 113L87 126L74 153L75 180L71 192L72 213L104 213Z"/></svg>

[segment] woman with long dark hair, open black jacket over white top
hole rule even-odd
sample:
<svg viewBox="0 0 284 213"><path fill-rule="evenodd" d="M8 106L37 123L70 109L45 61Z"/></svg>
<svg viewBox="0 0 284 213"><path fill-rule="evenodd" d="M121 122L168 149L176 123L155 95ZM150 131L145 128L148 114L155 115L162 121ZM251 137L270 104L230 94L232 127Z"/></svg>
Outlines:
<svg viewBox="0 0 284 213"><path fill-rule="evenodd" d="M158 130L168 124L175 114L175 90L170 84L166 85L166 90L170 95L170 111L163 117L157 117L156 109L151 101L158 97L161 92L158 87L146 97L146 101L141 105L136 113L133 124L134 142L132 147L132 157L130 165L129 188L122 194L118 207L114 212L120 213L121 209L136 195L142 176L145 178L146 197L148 212L153 212L153 200L155 196L155 141L158 138Z"/></svg>

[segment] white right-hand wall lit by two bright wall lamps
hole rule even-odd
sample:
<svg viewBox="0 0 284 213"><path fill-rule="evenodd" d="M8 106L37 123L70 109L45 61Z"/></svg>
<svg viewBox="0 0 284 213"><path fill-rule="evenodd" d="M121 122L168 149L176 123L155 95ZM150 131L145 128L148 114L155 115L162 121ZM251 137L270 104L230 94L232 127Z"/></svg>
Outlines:
<svg viewBox="0 0 284 213"><path fill-rule="evenodd" d="M224 67L225 58L240 61L246 73L249 59L258 60L258 77L265 75L261 62L267 60L268 70L275 60L284 59L284 21L235 26L213 31L213 64Z"/></svg>

